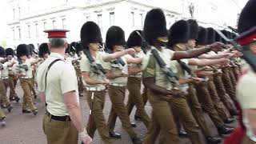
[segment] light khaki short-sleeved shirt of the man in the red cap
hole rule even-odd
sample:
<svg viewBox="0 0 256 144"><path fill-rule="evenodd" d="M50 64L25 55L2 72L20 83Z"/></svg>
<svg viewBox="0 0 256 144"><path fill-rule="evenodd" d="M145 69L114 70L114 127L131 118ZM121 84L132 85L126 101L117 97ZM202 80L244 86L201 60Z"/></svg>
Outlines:
<svg viewBox="0 0 256 144"><path fill-rule="evenodd" d="M55 62L50 67L46 80L46 69L51 62L58 58L62 61ZM74 67L69 62L65 62L61 54L51 53L49 58L38 67L37 82L38 91L46 94L46 109L50 114L69 115L63 98L63 94L67 92L75 91L79 103L78 81Z"/></svg>

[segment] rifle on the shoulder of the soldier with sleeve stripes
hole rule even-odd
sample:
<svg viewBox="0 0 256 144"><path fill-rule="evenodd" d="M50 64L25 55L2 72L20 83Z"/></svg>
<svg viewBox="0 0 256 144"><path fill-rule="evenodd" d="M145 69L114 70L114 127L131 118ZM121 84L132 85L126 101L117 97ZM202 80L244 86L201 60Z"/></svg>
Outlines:
<svg viewBox="0 0 256 144"><path fill-rule="evenodd" d="M146 46L150 48L150 45L146 42L146 40L142 37L142 35L138 31L136 31L136 33L140 36L140 38L142 38L142 42L144 42ZM166 67L166 62L162 60L157 50L151 49L151 53L153 54L154 58L158 62L158 65L161 67L161 70L164 72L164 74L166 74L166 78L168 78L169 82L174 84L174 89L177 89L177 86L179 85L177 75L174 74L173 70Z"/></svg>

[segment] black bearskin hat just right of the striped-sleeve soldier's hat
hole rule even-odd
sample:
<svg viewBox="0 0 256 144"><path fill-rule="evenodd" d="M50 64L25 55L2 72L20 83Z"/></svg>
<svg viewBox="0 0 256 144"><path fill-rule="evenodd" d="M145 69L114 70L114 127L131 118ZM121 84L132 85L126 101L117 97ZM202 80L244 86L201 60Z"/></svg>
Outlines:
<svg viewBox="0 0 256 144"><path fill-rule="evenodd" d="M187 43L189 41L189 25L184 20L179 20L170 26L168 45L174 46L178 43Z"/></svg>

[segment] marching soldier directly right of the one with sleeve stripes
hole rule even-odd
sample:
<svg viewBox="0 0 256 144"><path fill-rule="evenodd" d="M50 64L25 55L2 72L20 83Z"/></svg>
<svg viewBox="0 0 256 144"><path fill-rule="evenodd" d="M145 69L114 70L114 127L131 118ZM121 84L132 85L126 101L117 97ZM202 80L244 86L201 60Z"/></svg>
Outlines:
<svg viewBox="0 0 256 144"><path fill-rule="evenodd" d="M174 51L183 51L186 50L186 43L189 41L190 38L190 27L188 22L184 20L180 20L175 22L173 26L170 27L169 32L169 43L170 49ZM187 65L194 65L194 66L210 66L214 64L223 64L226 62L225 58L215 59L215 60L208 60L208 59L198 59L198 58L188 58L188 59L181 59L178 61L171 61L171 65L174 66L174 71L178 78L180 78L180 90L184 91L185 93L189 90L190 83L198 83L201 82L201 78L197 78L196 75L190 71L190 68ZM191 93L192 92L192 93ZM209 128L206 126L206 121L204 116L202 115L202 108L198 103L198 98L194 98L196 95L194 91L190 90L190 94L186 95L186 99L184 98L175 98L175 101L170 102L171 106L175 106L178 108L173 109L174 116L180 120L185 128L185 130L191 135L192 143L198 143L195 141L196 136L196 127L195 127L195 120L192 114L195 117L201 117L198 119L198 124L202 126L202 131L206 136L207 142L210 143L219 143L221 142L221 138L215 138L211 136ZM187 102L186 102L187 100ZM195 102L195 103L194 103ZM188 108L188 104L191 106L192 114L190 109ZM183 109L183 110L182 110ZM175 118L175 119L177 119ZM198 134L198 131L197 131Z"/></svg>

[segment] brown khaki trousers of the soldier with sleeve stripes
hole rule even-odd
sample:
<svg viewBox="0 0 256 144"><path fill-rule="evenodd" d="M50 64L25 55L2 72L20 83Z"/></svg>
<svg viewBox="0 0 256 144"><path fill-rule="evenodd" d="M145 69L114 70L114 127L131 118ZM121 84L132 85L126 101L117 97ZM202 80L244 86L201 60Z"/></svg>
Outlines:
<svg viewBox="0 0 256 144"><path fill-rule="evenodd" d="M147 91L150 104L152 106L152 125L146 133L143 144L154 144L161 130L162 143L179 143L178 131L174 122L173 111L171 110L170 101L161 94Z"/></svg>

